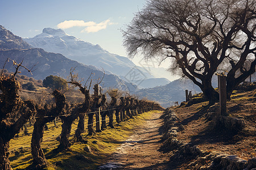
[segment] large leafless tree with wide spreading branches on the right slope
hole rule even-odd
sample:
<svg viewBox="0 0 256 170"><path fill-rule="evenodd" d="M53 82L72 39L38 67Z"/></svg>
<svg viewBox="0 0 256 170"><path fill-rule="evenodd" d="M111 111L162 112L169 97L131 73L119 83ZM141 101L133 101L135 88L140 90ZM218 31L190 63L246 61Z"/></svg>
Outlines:
<svg viewBox="0 0 256 170"><path fill-rule="evenodd" d="M122 31L123 44L130 56L170 58L170 71L182 73L215 101L212 76L218 69L228 72L228 96L255 72L255 10L253 0L148 1Z"/></svg>

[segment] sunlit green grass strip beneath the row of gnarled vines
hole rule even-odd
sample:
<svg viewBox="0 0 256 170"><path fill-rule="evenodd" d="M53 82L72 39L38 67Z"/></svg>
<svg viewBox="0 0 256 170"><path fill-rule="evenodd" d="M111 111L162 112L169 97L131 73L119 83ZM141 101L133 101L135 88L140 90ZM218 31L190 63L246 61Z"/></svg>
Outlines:
<svg viewBox="0 0 256 170"><path fill-rule="evenodd" d="M59 145L59 142L56 141L56 137L61 132L61 122L59 122L56 127L54 127L52 122L48 123L47 126L49 129L44 131L42 142L42 148L49 163L48 169L96 169L106 158L113 154L116 148L119 147L129 135L131 135L135 125L143 124L144 119L156 112L158 111L146 112L126 120L125 122L121 122L121 124L115 123L115 129L108 127L108 129L101 133L97 133L96 136L86 136L86 134L88 134L86 129L82 136L88 141L87 144L75 142L73 138L78 123L76 120L72 125L71 136L69 137L72 143L71 151L60 152L59 154L53 154L51 151ZM87 125L87 121L86 119L85 126ZM24 135L24 132L20 131L19 137L11 139L10 141L10 151L12 152L9 159L13 169L24 169L32 164L32 155L30 152L32 130L32 126L28 127L30 135ZM93 141L97 141L97 144L92 143ZM84 151L86 145L92 149L91 153ZM24 153L15 155L14 151L20 151L20 147L23 147ZM91 161L77 160L76 155L84 155ZM56 162L60 165L56 166Z"/></svg>

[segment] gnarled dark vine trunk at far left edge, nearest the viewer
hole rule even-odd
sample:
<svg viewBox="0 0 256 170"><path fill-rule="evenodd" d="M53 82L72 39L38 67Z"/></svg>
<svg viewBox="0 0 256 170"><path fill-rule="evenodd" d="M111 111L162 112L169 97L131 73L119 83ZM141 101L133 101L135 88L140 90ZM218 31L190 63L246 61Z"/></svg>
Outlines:
<svg viewBox="0 0 256 170"><path fill-rule="evenodd" d="M22 62L13 63L16 69L13 75L5 76L3 70L0 75L0 169L3 170L11 169L8 152L10 140L35 112L35 104L32 101L22 101L18 94L20 84L15 80L15 75L19 67L24 66Z"/></svg>

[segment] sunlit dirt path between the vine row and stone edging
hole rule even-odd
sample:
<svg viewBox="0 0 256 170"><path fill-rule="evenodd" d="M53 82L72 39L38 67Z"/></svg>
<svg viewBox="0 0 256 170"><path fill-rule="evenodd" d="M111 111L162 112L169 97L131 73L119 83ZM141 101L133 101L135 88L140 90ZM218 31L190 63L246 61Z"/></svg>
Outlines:
<svg viewBox="0 0 256 170"><path fill-rule="evenodd" d="M109 163L100 169L170 169L169 156L159 151L161 146L162 113L153 113L134 134L117 148Z"/></svg>

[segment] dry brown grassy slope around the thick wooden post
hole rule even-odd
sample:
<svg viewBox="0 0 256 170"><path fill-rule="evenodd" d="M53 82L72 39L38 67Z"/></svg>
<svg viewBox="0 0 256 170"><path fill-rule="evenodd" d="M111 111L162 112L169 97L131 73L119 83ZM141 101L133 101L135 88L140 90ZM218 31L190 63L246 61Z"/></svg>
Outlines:
<svg viewBox="0 0 256 170"><path fill-rule="evenodd" d="M244 118L245 128L238 133L210 129L209 115L200 112L207 103L199 103L190 107L175 108L185 130L177 139L198 145L204 151L215 151L224 154L238 155L249 159L256 156L256 96L253 91L234 91L232 99L227 103L229 116Z"/></svg>

